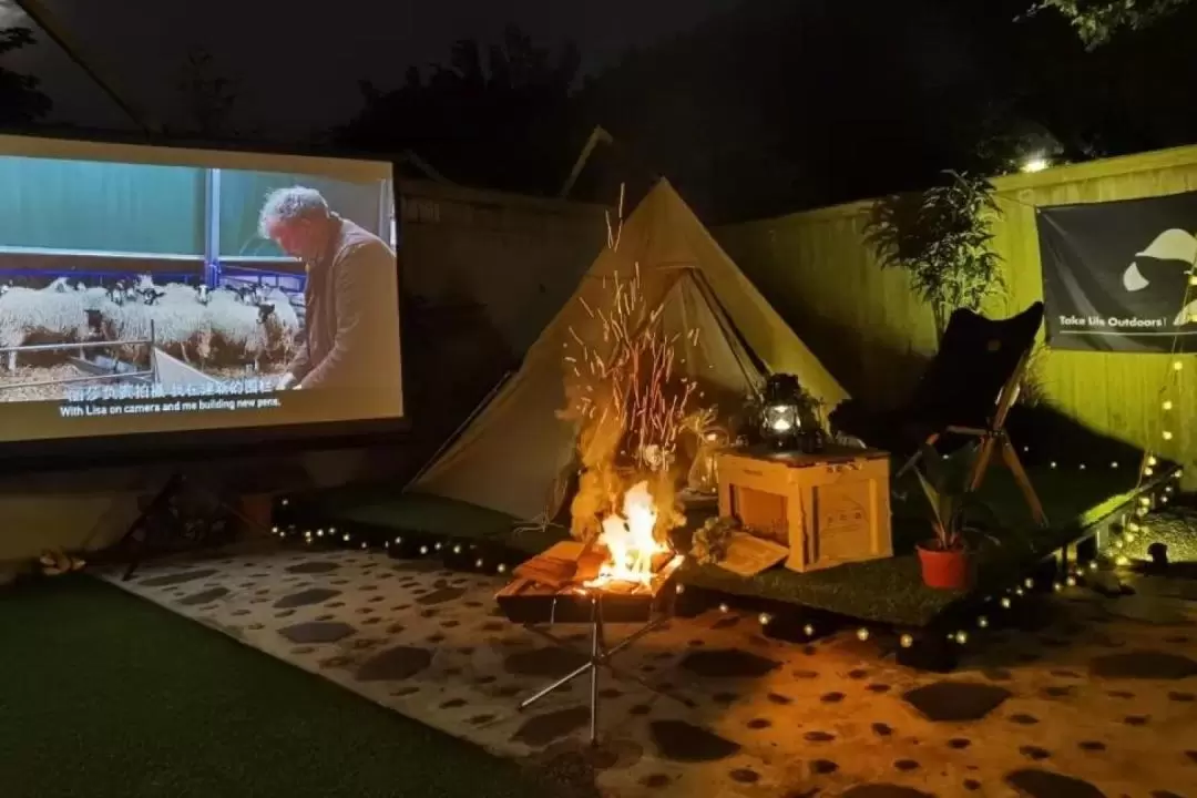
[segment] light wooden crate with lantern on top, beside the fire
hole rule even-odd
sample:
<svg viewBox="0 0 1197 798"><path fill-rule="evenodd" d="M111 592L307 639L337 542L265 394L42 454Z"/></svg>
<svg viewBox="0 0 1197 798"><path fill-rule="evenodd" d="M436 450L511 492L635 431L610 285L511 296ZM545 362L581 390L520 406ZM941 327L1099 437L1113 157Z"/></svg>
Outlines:
<svg viewBox="0 0 1197 798"><path fill-rule="evenodd" d="M886 452L740 450L717 467L719 514L788 547L791 571L893 556Z"/></svg>

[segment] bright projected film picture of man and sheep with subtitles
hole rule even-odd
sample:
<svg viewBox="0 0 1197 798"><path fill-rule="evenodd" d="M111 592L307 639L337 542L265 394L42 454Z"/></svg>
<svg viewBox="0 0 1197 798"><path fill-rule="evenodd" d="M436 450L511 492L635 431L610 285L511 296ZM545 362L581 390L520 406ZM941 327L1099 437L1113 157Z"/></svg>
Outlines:
<svg viewBox="0 0 1197 798"><path fill-rule="evenodd" d="M122 432L129 416L156 431L189 421L148 416L207 412L244 412L235 426L401 415L389 171L164 165L163 152L0 148L0 403L53 404L63 427L0 438L117 415Z"/></svg>

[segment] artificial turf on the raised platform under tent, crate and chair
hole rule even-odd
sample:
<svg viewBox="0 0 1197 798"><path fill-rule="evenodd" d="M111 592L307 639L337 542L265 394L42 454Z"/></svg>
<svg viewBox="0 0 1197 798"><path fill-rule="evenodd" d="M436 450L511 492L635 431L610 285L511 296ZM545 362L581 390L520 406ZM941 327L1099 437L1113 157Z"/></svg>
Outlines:
<svg viewBox="0 0 1197 798"><path fill-rule="evenodd" d="M965 461L967 456L967 452L959 455ZM1130 500L1137 474L1134 462L1124 458L1125 465L1112 468L1110 458L1090 461L1086 469L1076 463L1028 468L1050 522L1046 530L1034 525L1010 473L997 463L991 467L980 499L988 511L982 520L986 522L992 540L971 541L977 590L1007 586L1005 581L1016 578L1021 569L1076 540L1086 528ZM915 546L931 536L929 505L913 475L906 475L898 488L906 499L892 504L893 558L804 574L778 567L748 579L716 565L687 562L679 577L688 585L730 595L790 602L863 621L925 626L967 593L932 590L923 584ZM321 508L328 523L486 538L528 554L542 552L569 536L567 530L558 526L518 529L518 522L504 513L429 494L391 495L373 488L340 491L330 499L334 497Z"/></svg>

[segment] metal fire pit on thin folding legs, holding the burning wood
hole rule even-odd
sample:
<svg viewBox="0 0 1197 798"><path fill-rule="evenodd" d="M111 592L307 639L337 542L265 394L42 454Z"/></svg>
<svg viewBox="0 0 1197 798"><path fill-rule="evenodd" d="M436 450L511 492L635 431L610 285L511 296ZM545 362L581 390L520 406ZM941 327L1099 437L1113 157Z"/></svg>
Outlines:
<svg viewBox="0 0 1197 798"><path fill-rule="evenodd" d="M554 590L529 579L516 579L500 590L496 599L508 620L522 625L529 632L558 647L576 651L569 642L540 628L539 625L585 623L590 626L590 651L587 662L522 701L519 711L527 709L579 676L590 674L590 744L593 745L598 741L598 669L606 669L616 678L636 682L652 693L680 701L680 699L648 684L644 680L619 670L610 664L610 658L660 628L673 615L673 604L678 593L675 575L681 562L682 558L680 556L670 560L654 575L649 585L610 585L609 587L569 585ZM619 642L608 645L603 629L606 623L639 623L642 626Z"/></svg>

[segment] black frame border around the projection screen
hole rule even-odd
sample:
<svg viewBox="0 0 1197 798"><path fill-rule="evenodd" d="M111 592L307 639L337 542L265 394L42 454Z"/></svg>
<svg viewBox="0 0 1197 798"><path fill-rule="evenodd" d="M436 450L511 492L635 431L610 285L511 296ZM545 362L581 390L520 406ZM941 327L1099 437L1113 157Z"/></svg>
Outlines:
<svg viewBox="0 0 1197 798"><path fill-rule="evenodd" d="M237 157L300 157L320 158L328 162L370 162L390 166L391 202L397 231L402 240L402 191L400 189L399 164L394 158L379 158L378 153L351 152L336 147L305 148L257 145L256 142L195 141L184 139L164 140L160 136L121 135L116 133L8 130L0 128L0 136L60 142L63 147L77 146L135 146L156 150L192 150L227 153ZM20 157L20 156L17 156ZM80 156L79 159L86 159ZM115 159L114 159L115 160ZM128 162L117 162L128 163ZM262 171L268 169L262 167ZM399 249L396 257L396 312L400 325L400 396L406 400L407 370L409 359L403 349L408 319L405 312L403 258ZM85 435L79 438L55 438L14 440L0 443L0 475L28 473L30 470L56 470L63 467L111 468L145 464L150 462L198 459L209 456L236 457L238 455L302 453L335 449L366 449L399 445L408 440L412 432L409 406L402 402L402 415L385 419L357 419L332 422L298 422L230 427L219 430L176 430L168 432L144 432L121 435ZM2 408L0 408L2 412ZM269 451L263 451L263 446Z"/></svg>

